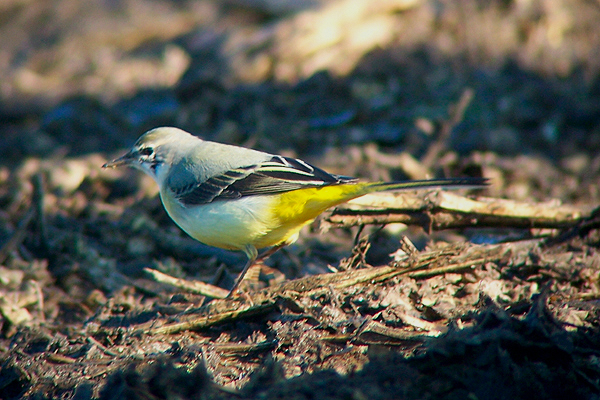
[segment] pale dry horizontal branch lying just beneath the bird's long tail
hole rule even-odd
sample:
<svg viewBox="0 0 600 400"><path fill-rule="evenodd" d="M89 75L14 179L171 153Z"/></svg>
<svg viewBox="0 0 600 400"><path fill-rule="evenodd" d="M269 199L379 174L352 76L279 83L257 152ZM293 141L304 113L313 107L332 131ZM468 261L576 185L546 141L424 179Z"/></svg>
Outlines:
<svg viewBox="0 0 600 400"><path fill-rule="evenodd" d="M549 203L479 197L436 191L426 196L413 193L378 193L341 205L326 216L320 228L365 224L403 223L425 230L452 228L571 228L590 211Z"/></svg>

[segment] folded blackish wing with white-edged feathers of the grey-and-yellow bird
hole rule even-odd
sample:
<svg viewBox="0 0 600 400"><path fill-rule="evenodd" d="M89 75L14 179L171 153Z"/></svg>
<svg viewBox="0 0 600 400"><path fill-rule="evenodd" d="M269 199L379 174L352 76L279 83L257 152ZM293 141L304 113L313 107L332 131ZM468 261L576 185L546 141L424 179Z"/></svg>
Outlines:
<svg viewBox="0 0 600 400"><path fill-rule="evenodd" d="M203 182L179 187L173 192L183 205L193 206L355 181L354 178L329 174L301 160L273 156L260 164L231 169Z"/></svg>

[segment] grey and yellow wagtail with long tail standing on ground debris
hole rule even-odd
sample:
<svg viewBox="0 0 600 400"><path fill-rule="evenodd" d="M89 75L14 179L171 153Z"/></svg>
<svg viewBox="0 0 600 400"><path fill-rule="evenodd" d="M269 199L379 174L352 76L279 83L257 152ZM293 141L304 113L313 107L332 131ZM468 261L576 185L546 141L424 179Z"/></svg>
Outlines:
<svg viewBox="0 0 600 400"><path fill-rule="evenodd" d="M483 187L483 178L358 182L304 161L209 142L181 129L144 133L103 168L128 165L150 175L169 216L194 239L240 250L248 262L229 296L257 260L298 239L303 226L335 205L367 193L435 187ZM269 248L259 256L258 249Z"/></svg>

